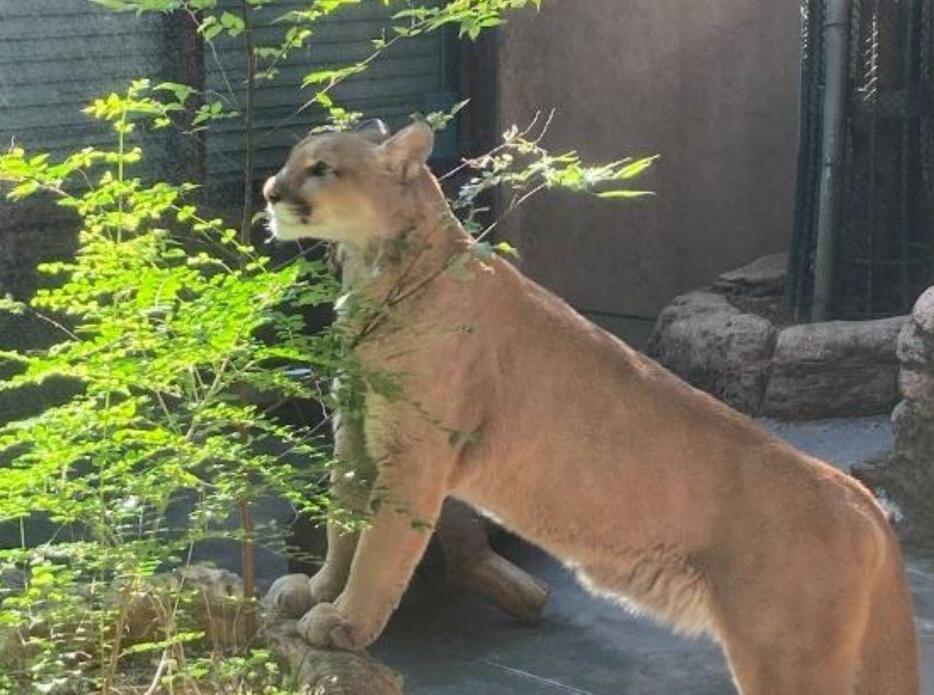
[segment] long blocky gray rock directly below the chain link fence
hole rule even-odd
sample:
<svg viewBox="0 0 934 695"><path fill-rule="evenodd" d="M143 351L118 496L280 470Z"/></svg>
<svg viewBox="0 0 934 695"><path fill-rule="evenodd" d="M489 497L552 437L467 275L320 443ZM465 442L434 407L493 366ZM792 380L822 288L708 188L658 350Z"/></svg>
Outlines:
<svg viewBox="0 0 934 695"><path fill-rule="evenodd" d="M905 321L829 321L781 331L763 413L800 420L888 412L898 399L896 345Z"/></svg>

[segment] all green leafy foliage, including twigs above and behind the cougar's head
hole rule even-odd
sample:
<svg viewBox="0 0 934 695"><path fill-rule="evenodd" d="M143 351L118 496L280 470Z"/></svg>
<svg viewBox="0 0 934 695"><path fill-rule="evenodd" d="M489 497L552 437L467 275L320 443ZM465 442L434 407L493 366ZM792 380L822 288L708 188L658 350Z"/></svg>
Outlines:
<svg viewBox="0 0 934 695"><path fill-rule="evenodd" d="M304 10L284 12L281 41L270 46L246 39L251 13L274 9L277 0L242 0L239 14L216 0L93 1L115 11L196 13L209 42L244 37L251 88L276 79L276 65L312 39L323 17L360 0L309 0ZM360 117L334 102L333 88L397 41L448 26L475 38L501 23L505 10L539 2L398 4L390 32L375 37L369 58L306 76L304 86L314 92L306 106L326 110L327 128ZM462 107L427 120L445 127ZM49 196L73 210L80 226L74 259L39 267L48 288L29 302L0 300L0 310L39 317L56 335L45 349L0 352L2 366L12 369L0 391L70 384L54 405L0 424L0 523L18 527L21 539L0 550L0 693L122 692L143 682L171 691L202 682L215 692L283 695L288 674L267 652L241 645L220 657L204 643L184 583L163 590L155 633L132 638L131 608L151 593L154 574L184 566L205 540L240 542L247 564L257 544L281 549L276 529L252 521L251 510L268 496L313 518L365 523L327 495L326 420L296 426L275 417L290 399L330 411L360 409L367 389L404 398L392 375L359 372L347 351L354 336L340 326L306 325L309 309L335 299L334 278L320 261L298 254L277 264L244 243L254 223L249 195L233 229L202 215L192 203L194 185L134 175L144 156L134 144L140 131L177 127L187 112L195 129L244 118L249 142L251 108L249 100L228 103L188 85L141 79L86 109L110 124L111 149L86 148L61 161L20 147L0 154L9 198ZM496 222L480 222L485 209L478 201L494 187L512 192L506 214L555 187L644 195L619 186L651 159L587 166L576 153L546 150L547 122L532 136L534 126L510 130L492 152L458 167L469 174L453 207L476 236L474 254L517 253L486 240ZM252 183L247 150L244 178ZM337 374L343 388L331 393ZM178 508L188 523L170 522ZM37 529L48 533L40 537ZM250 574L245 565L247 616Z"/></svg>

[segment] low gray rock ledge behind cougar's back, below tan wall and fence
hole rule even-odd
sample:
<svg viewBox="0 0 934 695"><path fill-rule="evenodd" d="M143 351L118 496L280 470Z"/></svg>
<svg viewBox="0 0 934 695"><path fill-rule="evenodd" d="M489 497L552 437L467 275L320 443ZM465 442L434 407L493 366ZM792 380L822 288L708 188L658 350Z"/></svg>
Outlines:
<svg viewBox="0 0 934 695"><path fill-rule="evenodd" d="M785 254L760 258L724 273L709 289L676 298L659 316L649 354L754 416L889 412L898 400L896 344L906 317L786 325L786 260Z"/></svg>

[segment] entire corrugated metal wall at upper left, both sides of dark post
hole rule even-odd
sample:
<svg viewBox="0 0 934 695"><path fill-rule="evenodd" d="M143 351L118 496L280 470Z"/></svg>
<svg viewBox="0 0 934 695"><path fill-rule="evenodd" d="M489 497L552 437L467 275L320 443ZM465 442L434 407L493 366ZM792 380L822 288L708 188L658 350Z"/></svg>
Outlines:
<svg viewBox="0 0 934 695"><path fill-rule="evenodd" d="M223 3L231 10L237 7L235 0ZM257 44L276 45L284 27L274 19L301 6L298 0L284 0L275 10L258 10ZM388 24L390 13L376 0L341 10L317 29L307 48L279 66L275 82L260 85L258 179L278 167L292 143L320 122L320 110L314 108L296 115L312 94L300 89L304 75L370 55L370 42ZM228 97L232 90L242 101L242 48L222 39L216 49L216 57L206 49L207 87ZM174 74L177 60L168 22L161 15L114 14L89 0L0 0L0 147L15 140L27 150L62 154L85 145L110 144L108 127L81 109L94 97L124 89L133 78L159 80ZM413 112L453 103L456 94L449 90L455 82L445 40L433 34L393 46L365 74L337 88L334 96L368 117L399 124ZM165 132L147 138L146 171L171 176L178 169L178 148L171 146ZM243 168L242 123L216 123L206 145L209 189L233 193ZM0 202L0 293L29 292L34 282L31 269L40 259L67 254L73 226L48 204Z"/></svg>

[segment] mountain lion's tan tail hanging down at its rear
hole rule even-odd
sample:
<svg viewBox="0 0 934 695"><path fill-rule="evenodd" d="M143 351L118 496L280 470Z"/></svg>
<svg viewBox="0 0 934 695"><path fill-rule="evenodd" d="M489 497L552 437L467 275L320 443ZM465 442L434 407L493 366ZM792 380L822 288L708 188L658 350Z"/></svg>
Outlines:
<svg viewBox="0 0 934 695"><path fill-rule="evenodd" d="M863 638L857 695L918 695L918 652L902 553L887 526L886 559L876 578Z"/></svg>

